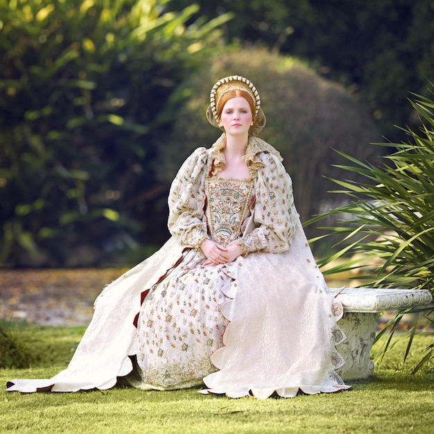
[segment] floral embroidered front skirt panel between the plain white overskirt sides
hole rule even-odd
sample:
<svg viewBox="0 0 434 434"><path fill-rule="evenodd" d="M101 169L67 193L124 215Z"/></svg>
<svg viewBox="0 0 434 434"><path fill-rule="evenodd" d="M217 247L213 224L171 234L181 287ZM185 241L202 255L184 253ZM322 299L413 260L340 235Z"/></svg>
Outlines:
<svg viewBox="0 0 434 434"><path fill-rule="evenodd" d="M209 357L223 346L227 320L222 288L232 278L224 266L202 266L195 250L156 284L141 305L137 322L137 364L131 381L141 389L201 385L216 371Z"/></svg>

